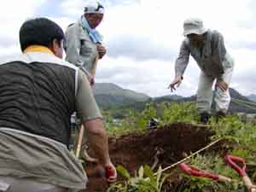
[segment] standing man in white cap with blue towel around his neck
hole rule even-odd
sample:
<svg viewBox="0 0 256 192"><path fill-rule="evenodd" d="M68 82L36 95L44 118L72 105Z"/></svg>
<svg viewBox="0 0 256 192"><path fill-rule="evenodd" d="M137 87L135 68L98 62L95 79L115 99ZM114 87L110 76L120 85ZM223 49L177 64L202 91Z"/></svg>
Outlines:
<svg viewBox="0 0 256 192"><path fill-rule="evenodd" d="M97 59L102 59L106 48L96 27L102 22L104 8L101 3L90 0L76 23L67 27L65 34L66 60L80 67L86 73L90 84L94 84Z"/></svg>

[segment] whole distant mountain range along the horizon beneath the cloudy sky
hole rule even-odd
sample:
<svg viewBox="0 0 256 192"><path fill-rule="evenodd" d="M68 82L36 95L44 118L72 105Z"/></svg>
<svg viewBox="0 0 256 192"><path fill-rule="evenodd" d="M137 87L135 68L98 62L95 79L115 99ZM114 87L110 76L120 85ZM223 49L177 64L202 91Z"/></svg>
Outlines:
<svg viewBox="0 0 256 192"><path fill-rule="evenodd" d="M147 102L195 102L196 96L160 96L150 97L134 90L127 90L116 84L95 84L93 92L96 102L103 109L110 108L144 108ZM230 112L256 113L256 95L242 96L237 90L230 88ZM248 103L255 102L255 106Z"/></svg>

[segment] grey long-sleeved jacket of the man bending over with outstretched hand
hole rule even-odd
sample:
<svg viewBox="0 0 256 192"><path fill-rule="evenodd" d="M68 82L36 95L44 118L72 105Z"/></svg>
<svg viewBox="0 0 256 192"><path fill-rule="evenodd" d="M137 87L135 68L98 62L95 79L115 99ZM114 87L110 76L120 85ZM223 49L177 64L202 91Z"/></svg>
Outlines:
<svg viewBox="0 0 256 192"><path fill-rule="evenodd" d="M189 55L191 55L201 70L214 78L220 78L226 69L233 67L233 60L227 53L224 46L224 38L217 31L208 30L205 37L205 44L202 49L195 47L185 38L180 48L179 55L175 63L175 76L183 76L186 67L189 64Z"/></svg>

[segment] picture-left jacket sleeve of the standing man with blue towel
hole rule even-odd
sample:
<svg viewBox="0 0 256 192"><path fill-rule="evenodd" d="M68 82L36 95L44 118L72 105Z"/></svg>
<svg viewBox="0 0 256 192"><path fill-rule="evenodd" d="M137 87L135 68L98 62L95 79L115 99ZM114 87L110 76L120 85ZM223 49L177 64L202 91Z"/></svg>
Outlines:
<svg viewBox="0 0 256 192"><path fill-rule="evenodd" d="M81 41L79 38L79 27L75 25L73 24L73 26L67 27L65 33L64 49L66 51L66 61L80 67L86 75L90 75L85 67L83 67L84 61L80 55Z"/></svg>

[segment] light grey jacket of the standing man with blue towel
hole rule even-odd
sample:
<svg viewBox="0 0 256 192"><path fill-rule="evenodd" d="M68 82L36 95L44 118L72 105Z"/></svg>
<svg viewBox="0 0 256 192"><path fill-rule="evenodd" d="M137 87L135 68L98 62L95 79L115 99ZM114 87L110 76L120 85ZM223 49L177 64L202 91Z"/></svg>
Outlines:
<svg viewBox="0 0 256 192"><path fill-rule="evenodd" d="M65 38L66 61L80 67L87 75L91 75L98 52L96 43L90 40L81 19L67 27Z"/></svg>

